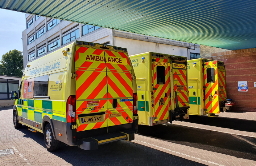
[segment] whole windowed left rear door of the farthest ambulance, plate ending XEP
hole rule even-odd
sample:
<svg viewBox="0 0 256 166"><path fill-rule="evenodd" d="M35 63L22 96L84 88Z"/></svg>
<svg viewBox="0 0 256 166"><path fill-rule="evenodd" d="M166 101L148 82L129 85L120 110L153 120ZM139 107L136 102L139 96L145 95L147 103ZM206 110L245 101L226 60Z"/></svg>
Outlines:
<svg viewBox="0 0 256 166"><path fill-rule="evenodd" d="M207 113L219 113L217 61L204 62L205 109Z"/></svg>

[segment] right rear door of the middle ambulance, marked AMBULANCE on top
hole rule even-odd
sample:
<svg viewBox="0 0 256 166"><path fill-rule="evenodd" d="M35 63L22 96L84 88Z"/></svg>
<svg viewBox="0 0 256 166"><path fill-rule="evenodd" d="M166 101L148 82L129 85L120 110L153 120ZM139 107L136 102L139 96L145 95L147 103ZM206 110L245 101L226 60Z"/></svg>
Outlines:
<svg viewBox="0 0 256 166"><path fill-rule="evenodd" d="M188 87L187 87L187 67L185 63L176 62L172 63L173 69L173 89L174 89L174 108L188 107ZM177 96L177 100L176 100Z"/></svg>

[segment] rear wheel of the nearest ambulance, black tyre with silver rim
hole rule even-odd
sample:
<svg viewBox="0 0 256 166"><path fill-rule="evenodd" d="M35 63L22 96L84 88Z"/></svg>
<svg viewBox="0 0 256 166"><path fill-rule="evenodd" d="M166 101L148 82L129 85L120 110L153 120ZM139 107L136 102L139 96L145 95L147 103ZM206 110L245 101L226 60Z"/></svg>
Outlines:
<svg viewBox="0 0 256 166"><path fill-rule="evenodd" d="M48 123L44 129L44 143L49 152L55 151L60 148L60 141L55 140L52 133L52 127Z"/></svg>

